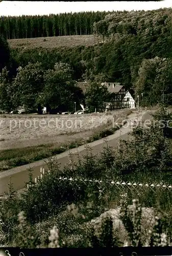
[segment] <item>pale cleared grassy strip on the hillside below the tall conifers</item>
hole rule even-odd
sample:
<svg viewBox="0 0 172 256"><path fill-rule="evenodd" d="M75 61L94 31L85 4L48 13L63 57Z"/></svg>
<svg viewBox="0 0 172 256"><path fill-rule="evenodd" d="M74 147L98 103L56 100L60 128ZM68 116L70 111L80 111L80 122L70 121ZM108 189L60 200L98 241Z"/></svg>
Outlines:
<svg viewBox="0 0 172 256"><path fill-rule="evenodd" d="M9 39L9 46L17 49L58 48L58 47L75 47L75 46L92 46L94 45L93 35L72 35L72 36L53 36Z"/></svg>

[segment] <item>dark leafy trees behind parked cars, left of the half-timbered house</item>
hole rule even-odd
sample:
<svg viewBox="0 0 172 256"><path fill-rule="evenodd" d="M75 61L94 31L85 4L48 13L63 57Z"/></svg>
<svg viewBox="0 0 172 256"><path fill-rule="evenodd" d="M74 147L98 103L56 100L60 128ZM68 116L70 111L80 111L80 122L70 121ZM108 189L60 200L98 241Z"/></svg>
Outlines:
<svg viewBox="0 0 172 256"><path fill-rule="evenodd" d="M10 113L24 108L28 113L46 106L46 111L73 111L74 102L87 104L90 110L98 108L110 97L107 88L91 83L83 94L73 79L73 71L67 63L57 62L53 69L44 70L41 63L29 63L17 69L11 81L9 71L0 73L0 110Z"/></svg>

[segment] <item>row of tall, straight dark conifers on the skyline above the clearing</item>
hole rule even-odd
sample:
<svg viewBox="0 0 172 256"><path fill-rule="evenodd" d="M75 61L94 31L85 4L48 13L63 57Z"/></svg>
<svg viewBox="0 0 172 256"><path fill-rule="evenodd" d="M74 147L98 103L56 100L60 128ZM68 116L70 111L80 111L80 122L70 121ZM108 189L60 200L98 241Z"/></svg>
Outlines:
<svg viewBox="0 0 172 256"><path fill-rule="evenodd" d="M6 39L64 35L90 35L93 23L110 12L60 13L35 16L1 16L0 34Z"/></svg>

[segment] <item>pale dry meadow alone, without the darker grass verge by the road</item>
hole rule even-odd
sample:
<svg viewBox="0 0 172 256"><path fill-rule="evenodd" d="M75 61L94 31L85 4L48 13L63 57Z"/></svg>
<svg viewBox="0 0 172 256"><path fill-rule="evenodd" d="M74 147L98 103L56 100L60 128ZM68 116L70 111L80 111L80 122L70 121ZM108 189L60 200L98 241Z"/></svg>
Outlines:
<svg viewBox="0 0 172 256"><path fill-rule="evenodd" d="M120 112L121 113L121 112ZM1 150L62 142L73 134L107 124L112 116L91 115L2 115Z"/></svg>

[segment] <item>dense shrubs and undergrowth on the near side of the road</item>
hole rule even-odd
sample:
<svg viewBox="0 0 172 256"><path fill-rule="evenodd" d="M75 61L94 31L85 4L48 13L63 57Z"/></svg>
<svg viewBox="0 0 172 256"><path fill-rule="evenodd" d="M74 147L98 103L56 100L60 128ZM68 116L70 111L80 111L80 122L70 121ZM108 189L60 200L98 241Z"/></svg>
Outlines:
<svg viewBox="0 0 172 256"><path fill-rule="evenodd" d="M113 237L111 220L106 220L103 224L103 229L108 232L108 240L106 236L97 238L91 228L89 238L93 238L91 237L91 242L88 242L83 230L86 230L85 225L88 222L99 217L102 212L119 206L122 188L115 185L114 189L115 180L168 183L171 178L171 151L169 139L165 138L164 134L159 125L150 129L136 127L132 133L133 140L119 141L116 150L105 143L104 151L100 156L96 156L91 148L88 148L87 154L83 158L79 157L78 162L74 162L70 155L70 162L64 169L59 169L58 163L50 162L50 174L46 173L36 184L33 182L31 172L32 186L28 192L18 199L10 188L9 199L1 202L2 243L18 245L17 237L21 226L18 227L17 215L24 211L28 220L28 230L30 229L31 237L34 238L34 241L31 239L32 243L38 247L48 246L50 234L47 234L47 230L53 226L60 230L60 242L56 243L57 246L86 247L90 243L90 246L124 245L126 236L125 239L118 239L115 232ZM121 220L128 233L126 243L137 246L162 243L169 245L169 238L172 237L171 190L158 187L144 188L139 185L137 187L138 189L132 189L125 186L123 190L123 193L127 194L125 204L121 205ZM138 198L141 205L134 201L131 209L127 205L131 204L134 198ZM70 207L66 210L67 205ZM154 218L153 224L149 223L148 230L143 230L141 226L141 206L155 209L157 217ZM23 229L26 229L26 225Z"/></svg>

